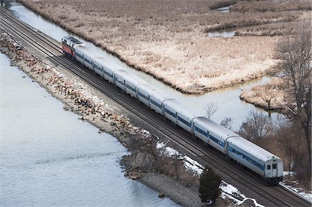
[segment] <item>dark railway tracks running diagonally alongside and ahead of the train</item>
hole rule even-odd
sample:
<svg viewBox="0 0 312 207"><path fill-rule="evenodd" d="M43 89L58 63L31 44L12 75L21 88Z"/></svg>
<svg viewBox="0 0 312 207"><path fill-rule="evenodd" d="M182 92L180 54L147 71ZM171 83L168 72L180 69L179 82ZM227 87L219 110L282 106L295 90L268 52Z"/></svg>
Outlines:
<svg viewBox="0 0 312 207"><path fill-rule="evenodd" d="M114 102L117 102L119 105L132 112L132 114L135 114L134 116L137 116L137 118L149 123L157 134L184 147L184 149L193 154L193 157L196 157L196 161L202 165L211 165L217 171L226 174L223 179L228 183L235 181L235 183L239 183L239 186L243 186L247 190L253 192L254 197L256 197L257 201L260 203L265 203L267 206L311 206L309 201L302 199L302 197L298 197L280 186L267 186L260 179L255 178L253 174L241 168L237 168L233 163L225 161L225 159L214 150L207 150L207 148L200 145L200 143L192 140L191 136L186 132L172 125L168 125L168 122L162 120L158 114L142 107L142 105L134 101L133 98L112 87L112 84L106 82L98 75L90 73L89 69L85 69L83 66L79 66L71 62L67 57L64 57L62 48L58 42L52 41L49 37L38 33L37 30L19 21L19 19L15 18L10 12L3 8L0 8L0 12L0 20L3 28L6 28L6 30L10 31L10 33L14 33L19 38L24 39L24 41L31 44L31 46L46 55L46 57L49 57L55 64L78 75L94 88L111 98Z"/></svg>

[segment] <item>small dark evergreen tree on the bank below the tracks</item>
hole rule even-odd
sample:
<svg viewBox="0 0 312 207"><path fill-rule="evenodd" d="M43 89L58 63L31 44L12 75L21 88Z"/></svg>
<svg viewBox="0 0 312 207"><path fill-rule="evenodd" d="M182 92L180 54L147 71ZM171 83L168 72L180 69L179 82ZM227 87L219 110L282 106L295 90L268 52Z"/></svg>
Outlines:
<svg viewBox="0 0 312 207"><path fill-rule="evenodd" d="M216 174L212 168L206 166L200 176L200 186L198 189L202 203L208 203L210 201L209 203L214 204L216 202L216 199L220 196L220 183L220 175Z"/></svg>

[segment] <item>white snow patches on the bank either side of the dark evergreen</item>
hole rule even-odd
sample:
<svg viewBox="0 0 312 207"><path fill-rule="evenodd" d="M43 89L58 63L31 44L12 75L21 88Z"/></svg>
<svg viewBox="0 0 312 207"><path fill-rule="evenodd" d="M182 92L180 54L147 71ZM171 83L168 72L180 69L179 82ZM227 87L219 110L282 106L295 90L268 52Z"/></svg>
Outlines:
<svg viewBox="0 0 312 207"><path fill-rule="evenodd" d="M197 161L194 161L189 156L182 156L180 152L177 152L177 150L174 150L171 147L167 147L166 143L163 142L157 142L156 148L160 150L161 154L164 154L166 156L179 156L178 159L182 159L184 161L184 167L187 170L191 170L192 172L195 172L200 176L202 174L202 171L204 167L200 165ZM225 181L222 181L220 184L220 189L222 191L221 197L223 199L231 199L234 201L234 205L241 205L247 200L251 200L254 202L254 206L257 207L263 207L263 205L258 204L256 199L246 197L239 191L239 189L235 188L229 183L226 183ZM242 199L242 200L241 200Z"/></svg>

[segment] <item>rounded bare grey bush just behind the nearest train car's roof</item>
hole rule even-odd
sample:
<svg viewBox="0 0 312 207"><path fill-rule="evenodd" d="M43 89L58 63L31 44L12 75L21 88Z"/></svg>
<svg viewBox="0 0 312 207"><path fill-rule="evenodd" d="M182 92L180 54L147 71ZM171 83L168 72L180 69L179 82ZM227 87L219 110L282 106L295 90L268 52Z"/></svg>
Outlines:
<svg viewBox="0 0 312 207"><path fill-rule="evenodd" d="M259 144L261 138L271 131L272 123L266 115L258 111L250 111L248 117L239 129L239 134L244 138Z"/></svg>

